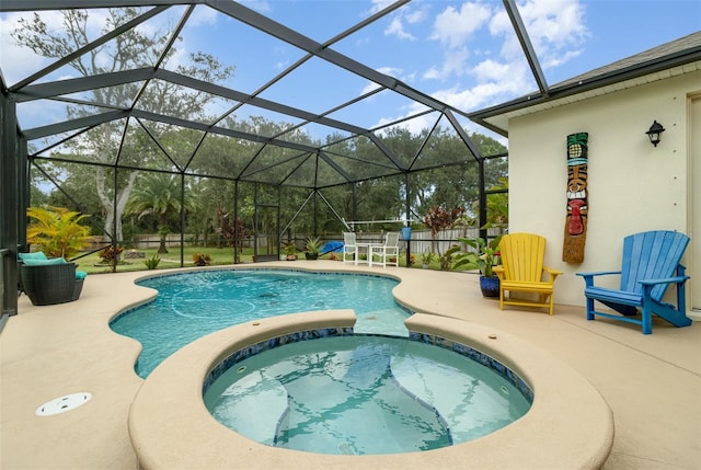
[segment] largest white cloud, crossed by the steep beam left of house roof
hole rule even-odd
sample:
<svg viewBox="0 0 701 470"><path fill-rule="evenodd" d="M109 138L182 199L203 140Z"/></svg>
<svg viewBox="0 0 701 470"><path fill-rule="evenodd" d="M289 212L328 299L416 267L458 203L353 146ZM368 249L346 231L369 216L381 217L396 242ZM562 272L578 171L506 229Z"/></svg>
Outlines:
<svg viewBox="0 0 701 470"><path fill-rule="evenodd" d="M543 69L559 67L582 54L581 47L588 32L579 1L529 0L518 8ZM423 78L459 79L450 88L432 94L461 110L489 106L536 89L506 11L494 10L487 18L484 10L485 7L479 3L463 3L459 9L447 8L435 21L432 38L444 45L444 60L441 66L430 66ZM474 41L479 44L466 45L485 22L489 22L490 36L479 35ZM478 45L480 49L476 49ZM490 47L498 47L498 56L492 56ZM480 55L482 60L475 62L474 58ZM474 80L467 81L467 77Z"/></svg>

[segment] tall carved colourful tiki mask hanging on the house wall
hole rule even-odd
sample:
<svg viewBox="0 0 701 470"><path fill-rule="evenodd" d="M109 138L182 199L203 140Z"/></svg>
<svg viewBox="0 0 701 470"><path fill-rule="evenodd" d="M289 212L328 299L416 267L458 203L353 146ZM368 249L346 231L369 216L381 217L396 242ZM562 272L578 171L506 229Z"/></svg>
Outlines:
<svg viewBox="0 0 701 470"><path fill-rule="evenodd" d="M567 216L565 218L565 238L562 247L562 261L582 263L584 243L587 236L587 133L567 136Z"/></svg>

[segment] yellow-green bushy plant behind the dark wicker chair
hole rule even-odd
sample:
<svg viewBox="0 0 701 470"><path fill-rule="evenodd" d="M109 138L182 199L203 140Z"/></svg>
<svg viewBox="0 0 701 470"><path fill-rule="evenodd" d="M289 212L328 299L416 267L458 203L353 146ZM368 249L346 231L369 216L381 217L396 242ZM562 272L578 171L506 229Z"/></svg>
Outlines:
<svg viewBox="0 0 701 470"><path fill-rule="evenodd" d="M26 228L26 242L36 244L49 257L70 259L89 245L90 228L80 225L88 217L65 207L30 207L34 219Z"/></svg>

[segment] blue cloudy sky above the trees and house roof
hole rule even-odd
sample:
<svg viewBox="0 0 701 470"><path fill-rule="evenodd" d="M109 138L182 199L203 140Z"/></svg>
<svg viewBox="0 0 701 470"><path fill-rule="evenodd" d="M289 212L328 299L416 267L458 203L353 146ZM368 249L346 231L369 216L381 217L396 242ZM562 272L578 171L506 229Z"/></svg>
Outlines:
<svg viewBox="0 0 701 470"><path fill-rule="evenodd" d="M377 11L387 0L253 0L243 5L325 43ZM701 30L698 0L528 0L516 1L549 85L635 55ZM141 26L168 28L184 9L173 7ZM99 37L104 12L89 23L91 39ZM21 49L10 35L18 16L0 14L0 70L13 84L50 64ZM57 12L42 12L49 28L61 31ZM179 54L165 68L184 61L187 53L205 50L235 67L220 83L253 93L304 56L300 49L264 35L205 5L198 5L176 43ZM334 43L332 49L389 74L462 112L474 112L537 90L536 81L514 34L502 1L413 0L391 14ZM42 81L78 77L65 67ZM377 85L313 58L261 93L312 113L323 113ZM221 110L231 103L220 102ZM60 121L61 103L28 103L18 107L23 128ZM423 107L394 93L378 93L330 117L372 128L404 118ZM214 110L216 112L216 110ZM263 115L290 122L288 116L241 108L237 117ZM406 122L412 130L432 125L433 116ZM291 121L295 123L295 121ZM479 128L467 119L470 131ZM308 126L321 136L330 129ZM489 133L484 133L489 134Z"/></svg>

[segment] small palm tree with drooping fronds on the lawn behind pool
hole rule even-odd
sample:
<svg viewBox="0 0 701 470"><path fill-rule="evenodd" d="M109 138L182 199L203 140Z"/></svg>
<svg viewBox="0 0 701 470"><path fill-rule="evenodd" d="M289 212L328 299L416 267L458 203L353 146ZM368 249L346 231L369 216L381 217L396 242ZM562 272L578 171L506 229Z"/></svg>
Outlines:
<svg viewBox="0 0 701 470"><path fill-rule="evenodd" d="M185 192L185 209L188 209L191 196ZM158 218L158 233L161 238L159 253L168 253L165 237L170 229L168 221L174 214L180 213L181 185L177 176L168 173L146 173L140 177L139 184L131 192L126 213L134 214L137 218L153 215Z"/></svg>

